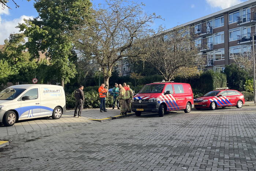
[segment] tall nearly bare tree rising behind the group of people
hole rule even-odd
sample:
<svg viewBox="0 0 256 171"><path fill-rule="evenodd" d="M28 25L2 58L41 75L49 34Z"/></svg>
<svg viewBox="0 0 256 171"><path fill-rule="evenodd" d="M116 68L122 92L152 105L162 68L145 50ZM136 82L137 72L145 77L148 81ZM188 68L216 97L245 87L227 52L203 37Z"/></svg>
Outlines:
<svg viewBox="0 0 256 171"><path fill-rule="evenodd" d="M85 21L85 26L74 35L77 50L97 60L107 87L116 62L126 57L134 42L144 38L151 31L150 24L160 18L155 14L145 14L143 5L125 0L106 0L104 5L94 8L93 20Z"/></svg>

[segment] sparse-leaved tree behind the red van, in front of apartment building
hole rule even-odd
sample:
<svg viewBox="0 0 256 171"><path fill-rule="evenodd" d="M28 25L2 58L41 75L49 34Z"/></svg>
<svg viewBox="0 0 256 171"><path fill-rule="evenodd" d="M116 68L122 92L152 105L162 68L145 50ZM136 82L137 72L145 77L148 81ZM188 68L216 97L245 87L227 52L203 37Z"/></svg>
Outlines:
<svg viewBox="0 0 256 171"><path fill-rule="evenodd" d="M174 79L177 74L184 75L191 68L204 65L188 27L175 27L169 33L163 33L160 27L157 33L137 41L136 45L136 59L155 66L165 81Z"/></svg>

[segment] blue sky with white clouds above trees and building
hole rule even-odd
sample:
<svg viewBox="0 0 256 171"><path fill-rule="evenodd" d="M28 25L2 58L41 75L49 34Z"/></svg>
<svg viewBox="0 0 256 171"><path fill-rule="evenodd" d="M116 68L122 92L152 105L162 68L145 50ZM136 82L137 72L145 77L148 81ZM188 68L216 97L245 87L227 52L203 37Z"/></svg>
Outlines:
<svg viewBox="0 0 256 171"><path fill-rule="evenodd" d="M93 5L104 3L104 0L91 0ZM193 21L205 15L229 8L231 6L240 4L247 0L133 0L137 3L144 3L143 10L147 14L162 16L164 20L156 20L152 25L156 29L159 25L170 29L177 25ZM38 13L35 10L34 1L15 0L20 6L15 8L14 3L10 1L8 5L12 9L3 8L0 6L0 45L4 44L4 40L9 37L11 33L18 33L19 30L15 28L18 23L23 22L23 18L29 19L37 17Z"/></svg>

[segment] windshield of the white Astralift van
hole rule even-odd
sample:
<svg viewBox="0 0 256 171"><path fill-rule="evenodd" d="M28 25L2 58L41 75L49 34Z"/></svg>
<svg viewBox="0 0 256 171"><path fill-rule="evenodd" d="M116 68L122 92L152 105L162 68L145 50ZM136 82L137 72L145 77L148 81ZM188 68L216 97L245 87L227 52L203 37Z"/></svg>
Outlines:
<svg viewBox="0 0 256 171"><path fill-rule="evenodd" d="M13 100L18 97L26 89L5 89L0 92L0 100Z"/></svg>

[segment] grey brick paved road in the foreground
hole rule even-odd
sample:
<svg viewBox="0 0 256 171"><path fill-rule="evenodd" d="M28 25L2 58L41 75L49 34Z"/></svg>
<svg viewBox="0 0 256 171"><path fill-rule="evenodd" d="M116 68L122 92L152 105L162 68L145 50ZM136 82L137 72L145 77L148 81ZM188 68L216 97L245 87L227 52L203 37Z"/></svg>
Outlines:
<svg viewBox="0 0 256 171"><path fill-rule="evenodd" d="M256 107L61 124L0 137L0 170L256 170Z"/></svg>

